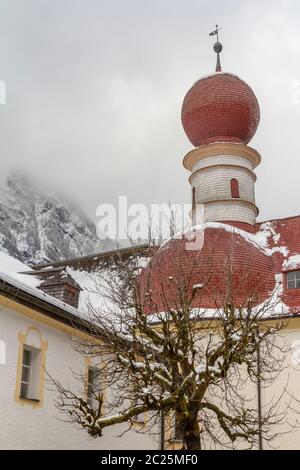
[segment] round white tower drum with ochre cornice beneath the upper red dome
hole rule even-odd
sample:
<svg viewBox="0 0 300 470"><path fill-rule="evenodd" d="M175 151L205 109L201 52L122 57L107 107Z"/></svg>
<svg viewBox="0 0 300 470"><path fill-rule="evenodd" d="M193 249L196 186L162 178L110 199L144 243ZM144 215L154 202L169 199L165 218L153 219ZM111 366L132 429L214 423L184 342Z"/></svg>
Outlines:
<svg viewBox="0 0 300 470"><path fill-rule="evenodd" d="M205 222L243 222L254 225L258 210L255 205L254 168L260 155L243 144L217 143L199 147L184 159L191 171L193 214L204 204ZM232 189L238 187L238 194ZM195 218L195 217L194 217Z"/></svg>

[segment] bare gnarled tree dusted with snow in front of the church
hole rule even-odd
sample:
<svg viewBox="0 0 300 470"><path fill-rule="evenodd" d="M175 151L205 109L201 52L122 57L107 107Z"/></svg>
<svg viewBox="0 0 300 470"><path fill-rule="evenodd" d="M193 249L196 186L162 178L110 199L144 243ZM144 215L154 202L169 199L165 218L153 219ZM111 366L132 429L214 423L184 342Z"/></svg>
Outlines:
<svg viewBox="0 0 300 470"><path fill-rule="evenodd" d="M213 252L210 269L207 258L203 269L195 257L182 277L178 271L167 275L158 254L145 263L134 252L99 271L93 290L102 305L89 304L90 339L76 342L100 364L97 405L55 381L57 406L67 419L100 437L118 423L130 429L142 413L149 432L163 413L169 426L176 420L184 448L194 450L252 448L262 434L268 441L275 436L286 410L279 399L258 406L257 386L272 384L284 367L286 347L278 334L284 324L265 321L278 302L276 289L262 299L262 279L253 278L247 260L237 275L231 248L226 250L222 282L214 277L217 271L220 279L220 266ZM194 283L195 271L204 273L201 283ZM208 297L213 308L199 307Z"/></svg>

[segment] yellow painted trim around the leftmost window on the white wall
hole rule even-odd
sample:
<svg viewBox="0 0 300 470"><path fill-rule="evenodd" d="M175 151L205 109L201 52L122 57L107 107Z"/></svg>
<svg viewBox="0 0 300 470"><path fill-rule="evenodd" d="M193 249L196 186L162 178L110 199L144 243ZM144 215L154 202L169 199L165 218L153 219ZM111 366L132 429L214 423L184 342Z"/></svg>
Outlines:
<svg viewBox="0 0 300 470"><path fill-rule="evenodd" d="M34 333L38 338L38 343L33 344L29 338L29 334ZM48 350L48 341L43 340L42 333L34 326L29 326L25 333L21 331L18 333L18 359L17 359L17 371L16 371L16 386L14 399L20 405L29 405L33 408L41 408L44 405L44 384L45 384L45 366L46 366L46 352ZM41 360L39 370L37 371L38 383L37 383L37 398L23 398L21 397L21 381L22 381L22 370L23 370L23 355L24 347L37 348L41 354Z"/></svg>

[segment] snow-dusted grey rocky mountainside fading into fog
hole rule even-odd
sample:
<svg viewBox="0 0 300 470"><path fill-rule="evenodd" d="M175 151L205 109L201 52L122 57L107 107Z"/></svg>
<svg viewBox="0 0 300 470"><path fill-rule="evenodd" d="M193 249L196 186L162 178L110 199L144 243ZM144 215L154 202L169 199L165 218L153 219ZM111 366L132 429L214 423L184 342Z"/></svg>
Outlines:
<svg viewBox="0 0 300 470"><path fill-rule="evenodd" d="M0 190L0 250L26 264L89 255L114 248L100 241L78 208L42 194L31 182L10 176Z"/></svg>

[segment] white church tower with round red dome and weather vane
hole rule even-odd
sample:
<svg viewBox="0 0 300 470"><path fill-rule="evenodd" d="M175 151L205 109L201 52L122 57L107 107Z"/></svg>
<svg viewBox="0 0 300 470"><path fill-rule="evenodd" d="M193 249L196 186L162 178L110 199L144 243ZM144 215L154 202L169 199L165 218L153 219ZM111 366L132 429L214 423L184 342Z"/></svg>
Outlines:
<svg viewBox="0 0 300 470"><path fill-rule="evenodd" d="M193 220L197 222L201 204L205 222L232 223L252 231L258 215L254 169L261 157L247 144L259 124L259 104L243 80L222 72L218 27L214 34L216 72L191 87L181 111L185 133L196 147L183 160L191 172Z"/></svg>

